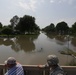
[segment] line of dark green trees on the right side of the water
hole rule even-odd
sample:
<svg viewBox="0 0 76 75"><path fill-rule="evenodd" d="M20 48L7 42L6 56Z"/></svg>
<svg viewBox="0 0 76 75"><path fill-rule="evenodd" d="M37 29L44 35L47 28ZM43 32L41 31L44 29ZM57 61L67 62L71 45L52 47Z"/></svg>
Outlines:
<svg viewBox="0 0 76 75"><path fill-rule="evenodd" d="M45 31L48 34L56 33L61 35L76 35L76 22L71 27L69 27L64 21L57 23L56 26L51 23L43 28L42 31Z"/></svg>

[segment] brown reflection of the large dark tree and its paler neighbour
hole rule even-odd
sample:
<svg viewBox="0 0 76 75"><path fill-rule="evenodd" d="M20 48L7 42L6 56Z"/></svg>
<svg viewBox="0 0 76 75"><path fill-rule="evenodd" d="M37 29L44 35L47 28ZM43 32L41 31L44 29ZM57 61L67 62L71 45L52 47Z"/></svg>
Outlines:
<svg viewBox="0 0 76 75"><path fill-rule="evenodd" d="M11 48L16 52L20 50L24 50L25 52L35 50L35 44L33 41L37 38L38 35L24 35L16 37Z"/></svg>

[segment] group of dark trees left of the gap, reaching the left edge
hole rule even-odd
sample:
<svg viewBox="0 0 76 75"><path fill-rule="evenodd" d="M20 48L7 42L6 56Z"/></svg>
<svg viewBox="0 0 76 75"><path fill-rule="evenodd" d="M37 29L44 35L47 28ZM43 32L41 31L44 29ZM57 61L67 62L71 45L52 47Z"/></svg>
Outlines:
<svg viewBox="0 0 76 75"><path fill-rule="evenodd" d="M24 15L18 17L15 15L10 19L10 25L5 25L0 22L0 34L38 34L40 31L39 26L35 23L35 17Z"/></svg>

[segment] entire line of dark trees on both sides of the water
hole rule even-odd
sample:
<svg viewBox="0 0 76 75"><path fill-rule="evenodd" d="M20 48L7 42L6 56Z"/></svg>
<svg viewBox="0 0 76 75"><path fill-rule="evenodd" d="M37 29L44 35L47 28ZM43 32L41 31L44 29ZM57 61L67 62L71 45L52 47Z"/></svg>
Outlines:
<svg viewBox="0 0 76 75"><path fill-rule="evenodd" d="M57 23L55 26L53 23L47 25L42 31L50 34L56 33L61 35L75 35L76 34L76 22L69 27L64 21ZM35 23L35 17L30 15L24 15L23 17L13 16L10 19L10 25L5 25L0 22L0 34L15 35L15 34L38 34L40 27Z"/></svg>

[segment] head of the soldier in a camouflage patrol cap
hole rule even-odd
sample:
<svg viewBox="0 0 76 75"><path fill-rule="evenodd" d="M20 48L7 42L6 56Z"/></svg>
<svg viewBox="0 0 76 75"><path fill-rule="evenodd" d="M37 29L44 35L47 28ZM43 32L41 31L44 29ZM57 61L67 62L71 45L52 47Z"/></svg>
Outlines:
<svg viewBox="0 0 76 75"><path fill-rule="evenodd" d="M58 65L59 59L56 55L48 55L47 63L49 66L55 66L55 65Z"/></svg>

